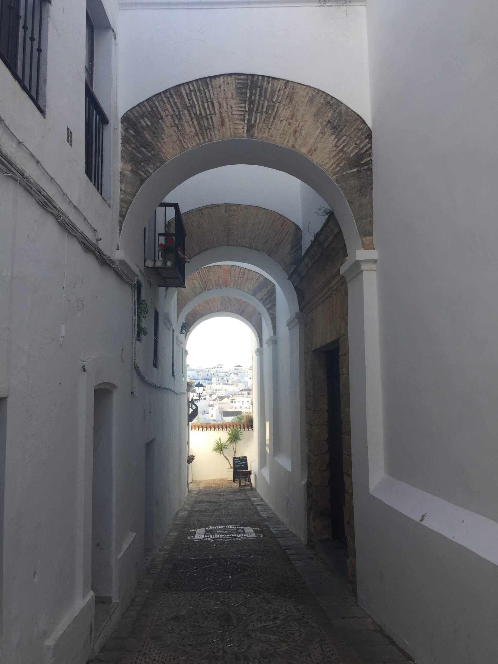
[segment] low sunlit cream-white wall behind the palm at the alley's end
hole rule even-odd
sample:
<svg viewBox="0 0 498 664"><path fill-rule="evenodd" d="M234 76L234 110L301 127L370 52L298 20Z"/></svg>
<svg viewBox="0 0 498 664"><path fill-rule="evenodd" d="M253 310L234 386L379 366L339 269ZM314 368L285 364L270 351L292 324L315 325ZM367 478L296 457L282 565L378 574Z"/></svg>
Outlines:
<svg viewBox="0 0 498 664"><path fill-rule="evenodd" d="M212 452L212 444L216 438L226 440L226 431L199 431L190 432L190 454L195 454L195 459L190 465L190 480L218 479L218 477L232 477L232 471L228 468L226 459ZM226 456L232 462L232 448L226 450ZM256 447L254 446L254 433L242 431L242 440L237 445L237 456L246 456L248 467L256 463Z"/></svg>

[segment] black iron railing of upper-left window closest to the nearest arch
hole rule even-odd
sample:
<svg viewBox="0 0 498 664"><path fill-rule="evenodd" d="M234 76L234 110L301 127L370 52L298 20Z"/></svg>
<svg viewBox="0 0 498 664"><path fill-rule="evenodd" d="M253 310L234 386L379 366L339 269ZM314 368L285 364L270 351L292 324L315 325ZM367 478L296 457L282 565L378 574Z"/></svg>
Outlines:
<svg viewBox="0 0 498 664"><path fill-rule="evenodd" d="M85 172L102 194L104 173L104 125L109 124L92 88L85 88Z"/></svg>

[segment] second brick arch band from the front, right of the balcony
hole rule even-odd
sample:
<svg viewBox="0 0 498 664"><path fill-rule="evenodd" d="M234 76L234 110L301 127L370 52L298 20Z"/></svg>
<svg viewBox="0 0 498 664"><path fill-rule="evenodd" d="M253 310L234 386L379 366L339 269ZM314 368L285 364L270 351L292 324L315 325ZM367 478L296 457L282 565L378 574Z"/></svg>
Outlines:
<svg viewBox="0 0 498 664"><path fill-rule="evenodd" d="M301 258L301 229L287 217L255 205L216 204L183 212L185 251L192 258L217 246L268 254L286 272Z"/></svg>

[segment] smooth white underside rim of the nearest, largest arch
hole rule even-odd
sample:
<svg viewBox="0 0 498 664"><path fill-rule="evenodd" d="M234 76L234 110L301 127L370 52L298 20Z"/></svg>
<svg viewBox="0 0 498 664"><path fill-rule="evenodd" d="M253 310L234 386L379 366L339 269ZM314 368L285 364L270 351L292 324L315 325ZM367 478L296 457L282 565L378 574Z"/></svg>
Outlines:
<svg viewBox="0 0 498 664"><path fill-rule="evenodd" d="M126 214L120 236L120 250L140 265L143 262L143 227L159 203L173 189L197 173L234 164L265 166L297 177L333 208L349 256L362 249L353 212L341 189L323 169L305 155L288 147L250 138L231 138L186 150L167 161L143 183Z"/></svg>

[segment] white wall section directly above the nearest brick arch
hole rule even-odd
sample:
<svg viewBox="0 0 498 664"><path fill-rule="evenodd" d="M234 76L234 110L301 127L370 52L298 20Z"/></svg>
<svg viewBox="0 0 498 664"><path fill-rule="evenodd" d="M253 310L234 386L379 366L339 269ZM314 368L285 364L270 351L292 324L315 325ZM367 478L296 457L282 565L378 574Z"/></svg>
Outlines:
<svg viewBox="0 0 498 664"><path fill-rule="evenodd" d="M120 115L171 86L240 72L319 88L370 122L365 7L125 4L131 8L120 11Z"/></svg>

